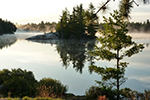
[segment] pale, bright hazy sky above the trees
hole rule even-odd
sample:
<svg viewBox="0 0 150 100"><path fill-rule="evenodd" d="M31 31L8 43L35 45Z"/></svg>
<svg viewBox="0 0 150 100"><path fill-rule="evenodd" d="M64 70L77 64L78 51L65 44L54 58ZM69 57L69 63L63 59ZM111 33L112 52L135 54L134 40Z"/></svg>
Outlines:
<svg viewBox="0 0 150 100"><path fill-rule="evenodd" d="M88 9L91 2L97 10L106 0L0 0L0 18L17 24L58 22L65 8L72 12L73 7L83 4L83 8ZM134 4L132 9L131 22L143 22L150 19L150 4L138 3L140 6L137 7ZM100 22L103 20L101 17L109 16L112 10L118 8L118 4L118 0L111 0L107 13L98 14Z"/></svg>

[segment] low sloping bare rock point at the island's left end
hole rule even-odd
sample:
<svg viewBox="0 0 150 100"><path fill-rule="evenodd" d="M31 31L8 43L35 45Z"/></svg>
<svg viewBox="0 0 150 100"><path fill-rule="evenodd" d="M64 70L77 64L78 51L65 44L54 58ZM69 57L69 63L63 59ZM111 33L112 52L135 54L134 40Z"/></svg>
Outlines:
<svg viewBox="0 0 150 100"><path fill-rule="evenodd" d="M27 40L50 40L50 39L58 39L59 38L59 33L45 33L43 35L36 35L27 38Z"/></svg>

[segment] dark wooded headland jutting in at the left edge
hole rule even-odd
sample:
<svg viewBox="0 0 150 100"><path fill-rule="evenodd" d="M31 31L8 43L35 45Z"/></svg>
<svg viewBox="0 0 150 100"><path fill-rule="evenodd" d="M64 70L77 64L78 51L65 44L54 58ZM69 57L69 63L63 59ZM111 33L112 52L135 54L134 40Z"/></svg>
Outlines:
<svg viewBox="0 0 150 100"><path fill-rule="evenodd" d="M2 20L0 18L0 35L2 34L13 34L16 32L17 27L10 21Z"/></svg>

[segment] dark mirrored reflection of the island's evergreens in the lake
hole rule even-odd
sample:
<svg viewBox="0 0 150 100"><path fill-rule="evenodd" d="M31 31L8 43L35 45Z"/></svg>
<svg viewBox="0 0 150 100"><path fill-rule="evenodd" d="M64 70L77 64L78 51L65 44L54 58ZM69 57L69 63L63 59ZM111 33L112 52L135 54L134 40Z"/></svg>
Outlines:
<svg viewBox="0 0 150 100"><path fill-rule="evenodd" d="M34 40L34 42L56 45L62 65L66 69L72 64L77 72L82 73L86 61L94 63L88 51L94 48L96 40Z"/></svg>

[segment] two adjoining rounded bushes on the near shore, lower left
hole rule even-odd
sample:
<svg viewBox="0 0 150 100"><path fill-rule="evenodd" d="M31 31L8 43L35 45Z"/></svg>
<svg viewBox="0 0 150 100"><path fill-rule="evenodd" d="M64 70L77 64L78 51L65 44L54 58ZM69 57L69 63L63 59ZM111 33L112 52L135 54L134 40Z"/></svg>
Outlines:
<svg viewBox="0 0 150 100"><path fill-rule="evenodd" d="M67 86L60 81L43 78L37 82L31 71L18 69L0 70L0 94L2 97L61 97ZM24 97L24 98L27 98Z"/></svg>

